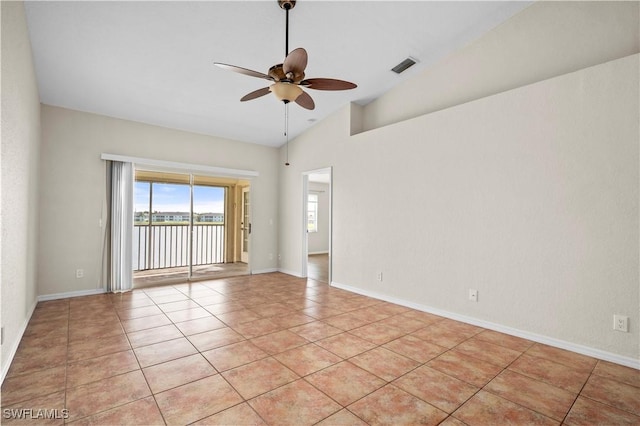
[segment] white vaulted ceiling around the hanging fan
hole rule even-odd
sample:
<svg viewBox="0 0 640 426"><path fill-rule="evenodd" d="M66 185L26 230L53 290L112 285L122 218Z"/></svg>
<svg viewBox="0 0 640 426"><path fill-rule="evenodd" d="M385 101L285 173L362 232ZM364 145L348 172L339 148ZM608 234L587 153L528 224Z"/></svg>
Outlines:
<svg viewBox="0 0 640 426"><path fill-rule="evenodd" d="M290 108L290 137L349 102L366 104L499 25L530 2L312 1L290 12L289 50L309 54L307 78L358 88L307 90ZM244 142L285 142L273 95L240 102L285 56L285 12L264 1L27 1L41 102ZM391 71L407 57L405 73ZM427 93L420 96L428 96Z"/></svg>

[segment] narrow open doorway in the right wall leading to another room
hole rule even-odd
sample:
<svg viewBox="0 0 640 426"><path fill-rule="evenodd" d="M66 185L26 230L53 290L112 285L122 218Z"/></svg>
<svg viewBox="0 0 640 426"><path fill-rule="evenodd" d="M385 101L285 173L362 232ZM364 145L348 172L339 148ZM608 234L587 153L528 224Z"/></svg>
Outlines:
<svg viewBox="0 0 640 426"><path fill-rule="evenodd" d="M302 276L331 283L331 168L303 173Z"/></svg>

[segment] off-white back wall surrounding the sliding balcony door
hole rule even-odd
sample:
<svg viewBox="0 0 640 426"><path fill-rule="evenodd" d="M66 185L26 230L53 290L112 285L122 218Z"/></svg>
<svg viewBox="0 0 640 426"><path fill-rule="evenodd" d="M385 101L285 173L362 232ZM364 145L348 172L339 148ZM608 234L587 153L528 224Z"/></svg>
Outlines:
<svg viewBox="0 0 640 426"><path fill-rule="evenodd" d="M277 267L275 148L171 130L63 108L42 107L40 295L102 288L106 197L101 153L254 170L253 271ZM273 256L270 256L273 254ZM84 278L75 270L84 269Z"/></svg>

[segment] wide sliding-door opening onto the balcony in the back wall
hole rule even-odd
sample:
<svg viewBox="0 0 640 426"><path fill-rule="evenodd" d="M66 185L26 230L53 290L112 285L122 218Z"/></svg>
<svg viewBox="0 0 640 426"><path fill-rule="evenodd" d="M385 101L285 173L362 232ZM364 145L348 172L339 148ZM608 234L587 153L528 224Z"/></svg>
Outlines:
<svg viewBox="0 0 640 426"><path fill-rule="evenodd" d="M134 287L249 274L239 225L249 210L237 208L249 188L246 180L136 170Z"/></svg>

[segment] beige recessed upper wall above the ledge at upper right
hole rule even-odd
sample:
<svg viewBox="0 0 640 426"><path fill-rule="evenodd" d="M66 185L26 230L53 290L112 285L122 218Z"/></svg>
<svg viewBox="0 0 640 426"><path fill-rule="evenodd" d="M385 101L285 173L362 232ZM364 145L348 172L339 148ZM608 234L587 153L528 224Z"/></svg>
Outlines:
<svg viewBox="0 0 640 426"><path fill-rule="evenodd" d="M540 1L364 107L371 130L640 50L640 3Z"/></svg>

